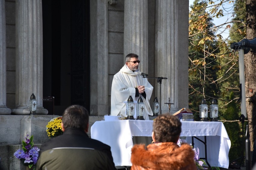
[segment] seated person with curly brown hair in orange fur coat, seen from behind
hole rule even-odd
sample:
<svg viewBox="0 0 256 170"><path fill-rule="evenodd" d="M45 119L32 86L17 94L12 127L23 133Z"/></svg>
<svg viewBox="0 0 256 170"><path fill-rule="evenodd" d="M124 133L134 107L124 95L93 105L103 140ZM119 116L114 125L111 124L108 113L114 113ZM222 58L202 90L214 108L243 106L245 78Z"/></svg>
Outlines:
<svg viewBox="0 0 256 170"><path fill-rule="evenodd" d="M162 114L153 123L152 144L134 145L131 170L196 170L195 152L191 146L177 145L181 122L177 117Z"/></svg>

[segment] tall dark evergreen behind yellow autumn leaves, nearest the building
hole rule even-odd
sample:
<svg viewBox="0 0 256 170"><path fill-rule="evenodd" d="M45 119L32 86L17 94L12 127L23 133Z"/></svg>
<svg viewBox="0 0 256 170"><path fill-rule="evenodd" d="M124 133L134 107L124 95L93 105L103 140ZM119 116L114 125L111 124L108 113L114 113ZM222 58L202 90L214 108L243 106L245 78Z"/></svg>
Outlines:
<svg viewBox="0 0 256 170"><path fill-rule="evenodd" d="M206 1L196 0L192 7L194 13L190 13L189 107L195 112L195 120L200 120L198 111L202 99L209 99L210 103L220 91L216 81L218 60L215 57L219 50L213 39L215 33L209 29L213 26L212 18L203 10L206 5Z"/></svg>

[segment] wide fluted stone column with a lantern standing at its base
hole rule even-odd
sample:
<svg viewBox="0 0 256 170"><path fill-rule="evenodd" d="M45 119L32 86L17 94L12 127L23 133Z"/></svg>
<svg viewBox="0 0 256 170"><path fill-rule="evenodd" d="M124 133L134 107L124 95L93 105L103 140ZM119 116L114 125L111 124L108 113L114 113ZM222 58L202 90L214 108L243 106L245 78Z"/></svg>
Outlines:
<svg viewBox="0 0 256 170"><path fill-rule="evenodd" d="M28 115L32 93L37 100L36 114L43 108L43 27L42 1L16 1L16 107L12 113Z"/></svg>

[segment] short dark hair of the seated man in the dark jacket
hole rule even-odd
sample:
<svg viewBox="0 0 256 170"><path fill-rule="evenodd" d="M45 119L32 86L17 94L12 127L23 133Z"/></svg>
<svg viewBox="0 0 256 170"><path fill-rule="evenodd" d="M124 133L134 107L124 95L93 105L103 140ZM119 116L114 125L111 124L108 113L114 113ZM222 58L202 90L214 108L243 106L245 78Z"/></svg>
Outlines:
<svg viewBox="0 0 256 170"><path fill-rule="evenodd" d="M86 108L80 105L71 105L63 113L64 128L78 128L85 130L89 123L89 114Z"/></svg>

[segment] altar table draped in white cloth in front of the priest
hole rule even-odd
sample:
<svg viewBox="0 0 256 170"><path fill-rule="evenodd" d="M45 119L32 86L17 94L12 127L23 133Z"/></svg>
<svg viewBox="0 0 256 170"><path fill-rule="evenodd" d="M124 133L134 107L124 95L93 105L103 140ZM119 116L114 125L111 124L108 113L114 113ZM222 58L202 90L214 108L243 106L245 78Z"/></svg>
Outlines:
<svg viewBox="0 0 256 170"><path fill-rule="evenodd" d="M210 166L228 169L228 152L231 146L222 122L183 122L181 136L191 143L193 136L207 139L207 160ZM91 127L91 138L111 147L115 166L131 166L133 136L151 137L153 120L113 120L97 121ZM194 147L199 148L199 157L205 157L205 146L194 139Z"/></svg>

